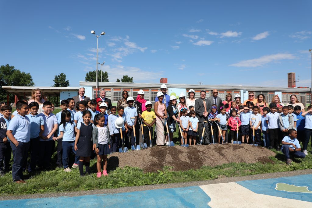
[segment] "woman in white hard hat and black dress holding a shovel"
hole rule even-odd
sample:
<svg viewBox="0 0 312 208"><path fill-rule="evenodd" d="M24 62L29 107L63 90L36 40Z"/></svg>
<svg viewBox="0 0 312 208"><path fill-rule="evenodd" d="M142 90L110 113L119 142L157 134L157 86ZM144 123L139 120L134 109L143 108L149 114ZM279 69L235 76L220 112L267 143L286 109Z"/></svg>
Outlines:
<svg viewBox="0 0 312 208"><path fill-rule="evenodd" d="M177 98L174 95L170 96L169 105L167 107L167 113L168 113L169 137L170 137L170 140L172 141L173 132L176 131L176 123L180 121L177 118L177 116L178 116Z"/></svg>

